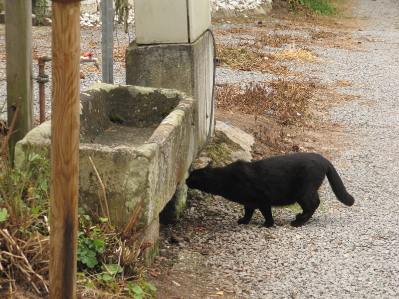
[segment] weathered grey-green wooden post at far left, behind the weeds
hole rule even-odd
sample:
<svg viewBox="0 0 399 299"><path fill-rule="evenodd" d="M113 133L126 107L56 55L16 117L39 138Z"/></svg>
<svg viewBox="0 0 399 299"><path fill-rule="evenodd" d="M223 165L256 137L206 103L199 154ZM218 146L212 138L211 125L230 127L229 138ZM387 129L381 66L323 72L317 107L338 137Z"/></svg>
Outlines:
<svg viewBox="0 0 399 299"><path fill-rule="evenodd" d="M33 128L32 1L5 0L5 51L8 125L20 100L14 134L8 140L10 161L14 146Z"/></svg>

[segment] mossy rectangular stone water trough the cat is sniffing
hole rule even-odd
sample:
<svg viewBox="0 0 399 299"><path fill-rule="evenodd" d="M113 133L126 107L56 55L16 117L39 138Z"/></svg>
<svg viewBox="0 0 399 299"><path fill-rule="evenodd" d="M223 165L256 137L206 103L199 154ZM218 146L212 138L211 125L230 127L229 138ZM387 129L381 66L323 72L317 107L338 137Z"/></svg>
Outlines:
<svg viewBox="0 0 399 299"><path fill-rule="evenodd" d="M195 99L177 90L100 83L81 93L80 104L79 206L100 211L102 192L91 157L114 223L124 224L144 200L136 227L148 226L145 238L157 244L160 213L173 221L185 206L185 175L204 139ZM17 143L16 166L28 150L50 148L50 129L45 122ZM151 253L156 251L154 246Z"/></svg>

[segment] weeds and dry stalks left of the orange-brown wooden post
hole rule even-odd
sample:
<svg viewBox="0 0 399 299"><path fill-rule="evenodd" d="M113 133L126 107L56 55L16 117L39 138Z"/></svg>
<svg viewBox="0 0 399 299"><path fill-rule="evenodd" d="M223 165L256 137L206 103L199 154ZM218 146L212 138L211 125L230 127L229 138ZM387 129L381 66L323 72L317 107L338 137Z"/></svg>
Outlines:
<svg viewBox="0 0 399 299"><path fill-rule="evenodd" d="M5 156L0 164L1 277L37 294L48 291L50 169L45 155L28 152L18 169Z"/></svg>

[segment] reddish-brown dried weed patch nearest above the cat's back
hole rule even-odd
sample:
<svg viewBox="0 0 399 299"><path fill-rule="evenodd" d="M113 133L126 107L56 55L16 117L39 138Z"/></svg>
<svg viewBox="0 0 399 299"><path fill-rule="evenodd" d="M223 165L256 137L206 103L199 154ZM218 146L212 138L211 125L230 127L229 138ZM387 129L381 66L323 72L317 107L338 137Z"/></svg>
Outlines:
<svg viewBox="0 0 399 299"><path fill-rule="evenodd" d="M216 108L222 111L271 117L282 125L300 123L314 85L305 81L277 79L244 88L223 85L215 92Z"/></svg>

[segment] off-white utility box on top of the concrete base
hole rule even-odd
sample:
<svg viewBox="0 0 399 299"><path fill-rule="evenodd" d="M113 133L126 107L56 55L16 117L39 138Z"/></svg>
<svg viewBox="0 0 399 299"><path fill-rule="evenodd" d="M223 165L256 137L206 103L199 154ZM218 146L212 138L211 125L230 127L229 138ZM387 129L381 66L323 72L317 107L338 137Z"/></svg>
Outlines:
<svg viewBox="0 0 399 299"><path fill-rule="evenodd" d="M134 0L138 44L194 42L210 27L209 0Z"/></svg>

